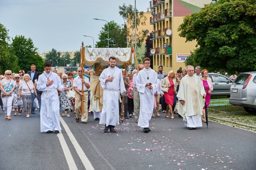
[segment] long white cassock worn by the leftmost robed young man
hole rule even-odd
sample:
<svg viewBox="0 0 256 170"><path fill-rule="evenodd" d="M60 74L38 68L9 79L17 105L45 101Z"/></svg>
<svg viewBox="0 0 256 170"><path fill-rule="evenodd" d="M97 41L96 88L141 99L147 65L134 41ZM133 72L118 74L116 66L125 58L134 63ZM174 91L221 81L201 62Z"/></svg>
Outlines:
<svg viewBox="0 0 256 170"><path fill-rule="evenodd" d="M48 78L48 79L47 79ZM46 87L47 80L53 80L51 86ZM59 98L57 89L62 90L60 78L57 74L44 71L38 78L37 90L43 91L41 95L40 125L41 132L48 130L61 130L59 122ZM64 93L64 91L62 91Z"/></svg>

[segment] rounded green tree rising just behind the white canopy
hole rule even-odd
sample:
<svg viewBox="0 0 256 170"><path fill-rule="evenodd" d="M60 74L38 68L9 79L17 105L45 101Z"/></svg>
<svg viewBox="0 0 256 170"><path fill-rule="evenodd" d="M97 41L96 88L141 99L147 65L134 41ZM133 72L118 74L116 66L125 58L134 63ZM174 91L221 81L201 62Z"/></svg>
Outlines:
<svg viewBox="0 0 256 170"><path fill-rule="evenodd" d="M108 47L108 24L102 27L99 34L99 40L96 42L95 47L106 48ZM126 28L118 25L114 21L109 22L109 48L122 48L126 47Z"/></svg>

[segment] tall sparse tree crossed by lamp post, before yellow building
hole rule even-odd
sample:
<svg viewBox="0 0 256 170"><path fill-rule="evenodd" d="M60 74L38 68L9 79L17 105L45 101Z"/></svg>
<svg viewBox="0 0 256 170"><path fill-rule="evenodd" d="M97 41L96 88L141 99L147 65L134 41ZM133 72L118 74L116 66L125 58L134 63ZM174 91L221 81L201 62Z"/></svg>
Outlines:
<svg viewBox="0 0 256 170"><path fill-rule="evenodd" d="M127 28L127 37L129 38L129 43L135 42L135 16L134 16L134 9L135 7L129 4L128 6L123 3L123 6L119 6L119 14L127 22L127 25L130 27ZM146 37L145 30L139 31L138 26L146 25L146 17L144 16L143 11L139 12L136 9L136 34L137 34L137 47L140 48L141 44L144 42Z"/></svg>

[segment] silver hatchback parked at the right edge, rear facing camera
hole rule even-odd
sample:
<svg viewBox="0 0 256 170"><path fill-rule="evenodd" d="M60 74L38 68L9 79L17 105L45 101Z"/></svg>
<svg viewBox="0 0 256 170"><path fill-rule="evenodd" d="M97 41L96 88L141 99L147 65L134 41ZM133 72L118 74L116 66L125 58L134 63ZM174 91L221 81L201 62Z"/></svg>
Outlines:
<svg viewBox="0 0 256 170"><path fill-rule="evenodd" d="M256 71L241 73L230 87L229 104L243 106L249 113L256 112Z"/></svg>

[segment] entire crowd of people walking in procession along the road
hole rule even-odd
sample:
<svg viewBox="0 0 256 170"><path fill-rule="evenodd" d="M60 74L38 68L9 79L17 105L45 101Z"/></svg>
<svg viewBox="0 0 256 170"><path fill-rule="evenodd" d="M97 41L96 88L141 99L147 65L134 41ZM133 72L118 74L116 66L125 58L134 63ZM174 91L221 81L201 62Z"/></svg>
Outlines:
<svg viewBox="0 0 256 170"><path fill-rule="evenodd" d="M11 120L13 108L14 116L21 115L23 110L29 118L30 113L34 114L33 101L37 98L41 132L46 133L59 133L59 114L70 117L72 111L76 122L80 122L81 116L82 123L87 123L88 113L94 114L94 120L105 124L104 133L116 132L120 114L125 119L134 118L148 133L150 119L160 117L161 110L165 118L170 115L174 119L174 114L178 114L188 129L201 127L202 122L206 122L203 97L208 107L213 91L207 69L187 66L166 74L162 66L157 72L151 69L149 58L138 65L138 70L133 69L126 75L125 69L116 66L115 57L109 58L108 68L97 65L95 71L83 67L77 72L51 71L50 62L44 63L44 72L35 69L32 64L26 74L21 69L17 74L11 70L6 70L4 76L1 74L1 98L7 120ZM230 79L236 77L231 75ZM74 93L73 98L68 97L70 91ZM60 106L62 113L56 106Z"/></svg>

